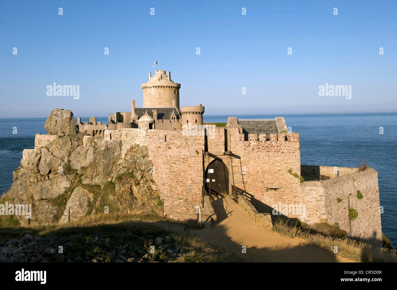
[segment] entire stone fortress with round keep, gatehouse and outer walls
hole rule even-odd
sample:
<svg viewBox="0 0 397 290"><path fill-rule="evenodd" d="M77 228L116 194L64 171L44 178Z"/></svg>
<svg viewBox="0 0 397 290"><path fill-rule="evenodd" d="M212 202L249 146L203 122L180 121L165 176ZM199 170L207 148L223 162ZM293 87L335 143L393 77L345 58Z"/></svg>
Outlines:
<svg viewBox="0 0 397 290"><path fill-rule="evenodd" d="M131 112L111 113L107 124L91 117L87 123L77 118L77 126L85 133L83 144L97 136L121 141L122 155L134 144L147 146L167 217L197 220L197 206L211 215L214 212L207 209L210 194L237 190L256 212L272 215L277 209L291 219L336 223L349 236L376 243L382 240L374 169L301 165L299 134L287 130L283 117L229 117L225 127L207 125L199 131L204 134L186 133L183 125L203 126L204 107L179 108L181 85L171 80L170 72L149 73L141 88L143 108L135 108L133 100ZM54 138L37 134L35 148ZM357 198L358 190L363 198ZM294 206L301 210L291 211ZM349 218L350 209L357 210L356 219Z"/></svg>

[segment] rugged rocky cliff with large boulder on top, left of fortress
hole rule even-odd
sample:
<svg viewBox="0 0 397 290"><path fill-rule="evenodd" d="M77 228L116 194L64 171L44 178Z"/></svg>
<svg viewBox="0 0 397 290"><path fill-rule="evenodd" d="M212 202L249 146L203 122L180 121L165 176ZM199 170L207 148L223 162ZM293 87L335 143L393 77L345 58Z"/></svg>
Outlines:
<svg viewBox="0 0 397 290"><path fill-rule="evenodd" d="M135 144L121 158L121 140L84 137L64 109L53 110L44 128L56 139L27 153L8 191L14 204L32 204L31 223L67 222L69 207L71 219L112 214L116 198L118 213L161 214L146 146Z"/></svg>

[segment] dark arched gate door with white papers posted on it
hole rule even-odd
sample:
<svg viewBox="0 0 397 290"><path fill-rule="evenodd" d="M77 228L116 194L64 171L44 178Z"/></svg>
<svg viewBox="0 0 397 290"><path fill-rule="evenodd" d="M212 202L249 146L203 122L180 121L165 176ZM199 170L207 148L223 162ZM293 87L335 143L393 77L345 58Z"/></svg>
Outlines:
<svg viewBox="0 0 397 290"><path fill-rule="evenodd" d="M207 166L205 188L209 194L229 194L229 170L222 160L215 159Z"/></svg>

